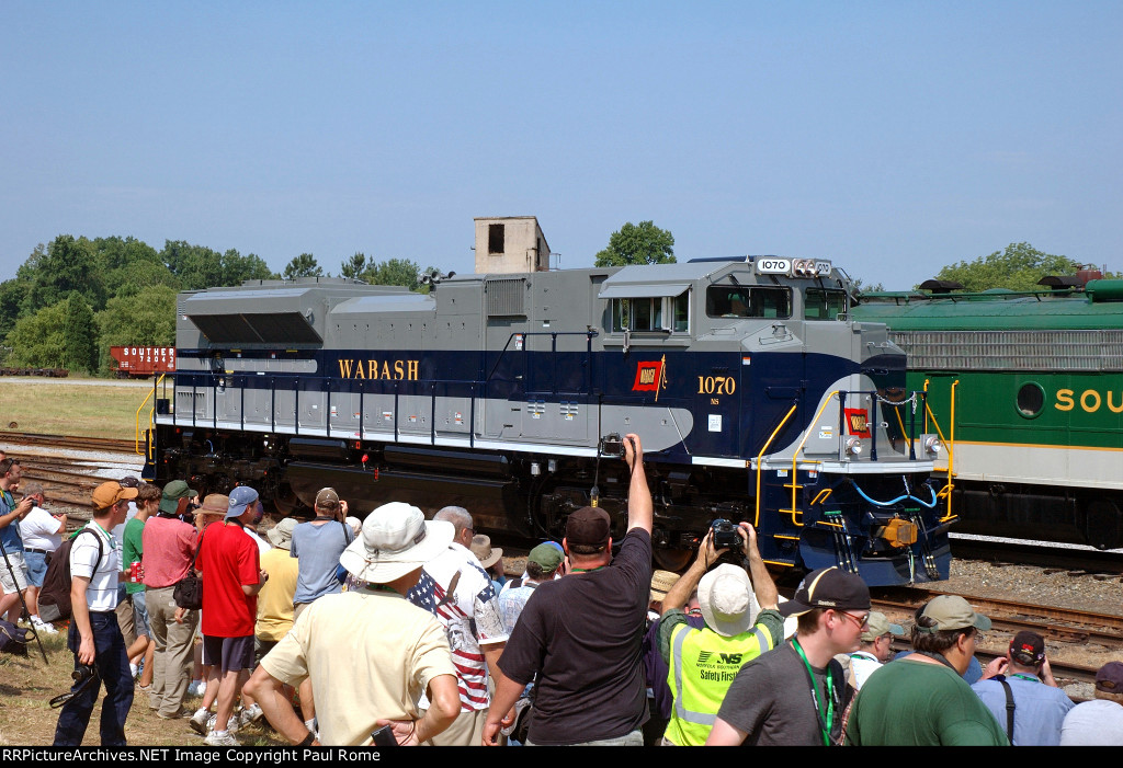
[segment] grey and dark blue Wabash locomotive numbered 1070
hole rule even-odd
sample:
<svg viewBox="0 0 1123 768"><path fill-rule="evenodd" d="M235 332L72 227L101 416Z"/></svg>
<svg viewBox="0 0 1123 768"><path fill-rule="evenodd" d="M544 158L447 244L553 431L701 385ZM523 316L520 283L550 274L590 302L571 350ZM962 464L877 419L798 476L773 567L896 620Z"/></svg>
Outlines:
<svg viewBox="0 0 1123 768"><path fill-rule="evenodd" d="M667 567L727 518L776 567L947 577L922 398L830 261L477 272L428 295L322 278L181 295L150 473L249 483L282 510L323 485L358 510L462 505L532 537L592 501L619 540L612 454L634 432Z"/></svg>

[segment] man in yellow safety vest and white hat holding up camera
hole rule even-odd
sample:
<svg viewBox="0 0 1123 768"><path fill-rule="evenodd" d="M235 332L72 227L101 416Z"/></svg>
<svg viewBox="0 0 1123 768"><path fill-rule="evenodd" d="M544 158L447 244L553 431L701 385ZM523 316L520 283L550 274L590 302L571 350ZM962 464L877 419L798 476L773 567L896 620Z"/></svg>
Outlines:
<svg viewBox="0 0 1123 768"><path fill-rule="evenodd" d="M776 610L776 584L757 549L757 533L748 522L741 522L737 533L748 573L728 563L710 571L728 552L714 549L711 529L699 547L694 564L663 601L659 653L667 661L667 683L674 695L670 721L663 737L665 746L704 744L741 666L772 650L784 638L784 618ZM691 627L683 612L695 587L705 619L701 629Z"/></svg>

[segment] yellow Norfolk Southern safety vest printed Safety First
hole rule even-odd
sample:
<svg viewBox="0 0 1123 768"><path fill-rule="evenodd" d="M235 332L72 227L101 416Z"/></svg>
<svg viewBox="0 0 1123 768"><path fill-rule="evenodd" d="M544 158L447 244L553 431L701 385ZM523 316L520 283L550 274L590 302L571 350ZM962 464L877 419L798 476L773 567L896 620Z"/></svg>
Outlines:
<svg viewBox="0 0 1123 768"><path fill-rule="evenodd" d="M666 739L678 747L704 744L737 673L772 648L772 633L761 624L733 637L723 637L709 627L675 627L667 670L675 704Z"/></svg>

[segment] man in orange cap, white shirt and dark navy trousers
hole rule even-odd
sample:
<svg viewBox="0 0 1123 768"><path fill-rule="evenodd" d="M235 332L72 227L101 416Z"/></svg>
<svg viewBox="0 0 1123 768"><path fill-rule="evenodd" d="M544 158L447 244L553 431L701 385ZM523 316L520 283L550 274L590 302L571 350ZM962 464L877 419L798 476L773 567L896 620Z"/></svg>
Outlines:
<svg viewBox="0 0 1123 768"><path fill-rule="evenodd" d="M74 653L74 668L95 675L74 683L73 696L58 713L55 747L79 747L85 735L101 684L101 746L124 747L125 719L133 706L133 675L125 638L117 623L117 584L121 576L121 552L109 534L125 522L129 499L137 489L116 480L93 490L93 519L76 534L71 547L71 605L73 617L66 645Z"/></svg>

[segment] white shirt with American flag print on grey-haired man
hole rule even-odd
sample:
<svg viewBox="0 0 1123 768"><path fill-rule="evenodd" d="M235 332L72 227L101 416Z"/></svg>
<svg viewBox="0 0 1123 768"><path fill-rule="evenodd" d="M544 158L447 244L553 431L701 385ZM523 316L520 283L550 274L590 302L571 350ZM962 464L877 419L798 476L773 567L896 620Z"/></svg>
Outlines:
<svg viewBox="0 0 1123 768"><path fill-rule="evenodd" d="M459 574L459 576L457 576ZM454 583L451 594L449 587ZM472 550L451 544L426 563L421 579L407 600L430 611L445 627L453 649L453 665L460 692L460 709L486 710L487 665L480 646L505 642L506 631L499 612L499 596L491 579Z"/></svg>

